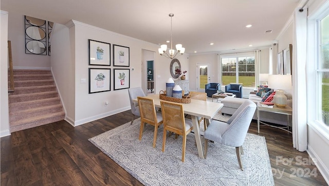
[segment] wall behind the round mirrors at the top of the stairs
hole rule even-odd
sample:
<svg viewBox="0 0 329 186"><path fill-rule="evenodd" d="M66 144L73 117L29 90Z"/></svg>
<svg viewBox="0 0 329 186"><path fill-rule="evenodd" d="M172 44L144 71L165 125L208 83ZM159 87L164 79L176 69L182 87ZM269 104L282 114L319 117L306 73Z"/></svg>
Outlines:
<svg viewBox="0 0 329 186"><path fill-rule="evenodd" d="M50 56L25 53L24 15L9 12L8 40L11 41L14 69L49 69Z"/></svg>

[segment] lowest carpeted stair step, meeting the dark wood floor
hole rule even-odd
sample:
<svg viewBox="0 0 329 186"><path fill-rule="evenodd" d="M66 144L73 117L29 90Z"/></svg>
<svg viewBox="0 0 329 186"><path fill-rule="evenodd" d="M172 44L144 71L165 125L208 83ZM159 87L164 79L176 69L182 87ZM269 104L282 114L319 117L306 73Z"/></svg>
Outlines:
<svg viewBox="0 0 329 186"><path fill-rule="evenodd" d="M26 118L10 123L10 132L22 131L27 128L32 128L48 123L61 121L65 118L64 111L58 113L51 113L42 116L35 116L32 118Z"/></svg>

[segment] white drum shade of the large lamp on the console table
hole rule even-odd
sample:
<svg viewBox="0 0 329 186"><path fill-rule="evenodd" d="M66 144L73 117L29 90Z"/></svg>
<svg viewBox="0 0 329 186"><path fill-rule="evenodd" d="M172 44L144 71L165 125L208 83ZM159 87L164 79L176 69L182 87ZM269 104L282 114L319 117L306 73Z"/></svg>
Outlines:
<svg viewBox="0 0 329 186"><path fill-rule="evenodd" d="M280 90L291 90L291 75L268 75L268 87Z"/></svg>

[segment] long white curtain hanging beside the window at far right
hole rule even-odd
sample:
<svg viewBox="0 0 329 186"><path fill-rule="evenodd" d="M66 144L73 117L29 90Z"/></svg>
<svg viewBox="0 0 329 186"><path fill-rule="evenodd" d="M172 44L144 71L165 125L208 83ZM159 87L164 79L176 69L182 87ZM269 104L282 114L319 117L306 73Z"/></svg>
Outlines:
<svg viewBox="0 0 329 186"><path fill-rule="evenodd" d="M295 10L293 43L293 145L298 151L307 149L306 104L306 35L307 7Z"/></svg>

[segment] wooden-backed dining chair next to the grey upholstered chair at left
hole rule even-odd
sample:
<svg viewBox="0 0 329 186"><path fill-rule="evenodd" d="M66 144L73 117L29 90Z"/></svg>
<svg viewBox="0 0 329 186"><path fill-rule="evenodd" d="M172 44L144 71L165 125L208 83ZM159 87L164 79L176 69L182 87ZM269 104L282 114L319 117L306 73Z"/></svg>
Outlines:
<svg viewBox="0 0 329 186"><path fill-rule="evenodd" d="M156 145L158 127L163 123L162 114L155 111L154 100L150 98L137 97L140 113L139 140L142 139L144 126L148 123L154 126L153 148Z"/></svg>

